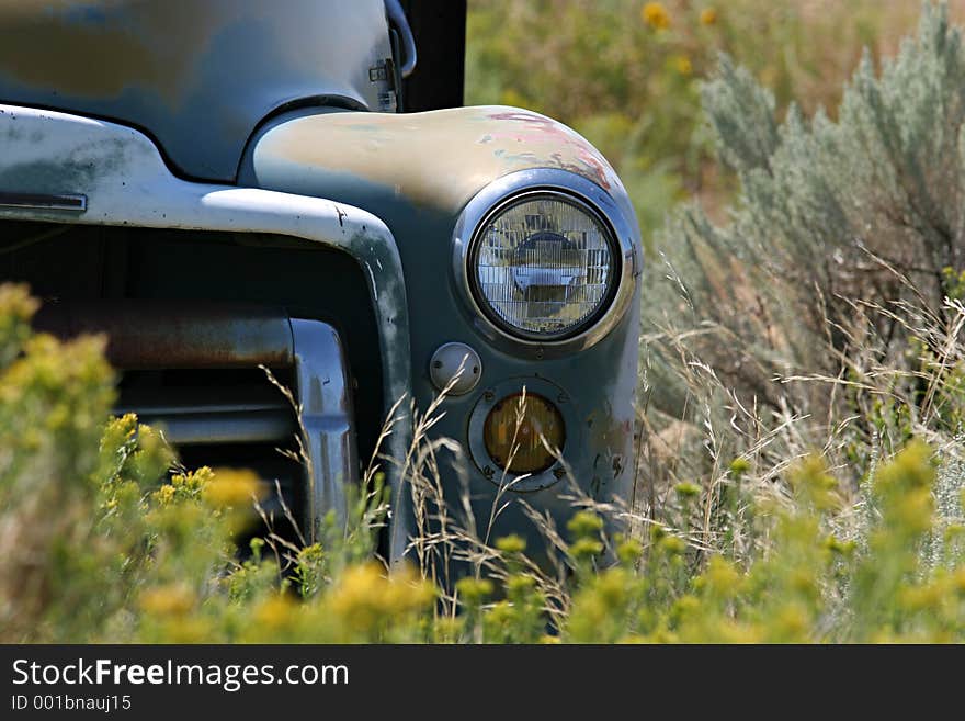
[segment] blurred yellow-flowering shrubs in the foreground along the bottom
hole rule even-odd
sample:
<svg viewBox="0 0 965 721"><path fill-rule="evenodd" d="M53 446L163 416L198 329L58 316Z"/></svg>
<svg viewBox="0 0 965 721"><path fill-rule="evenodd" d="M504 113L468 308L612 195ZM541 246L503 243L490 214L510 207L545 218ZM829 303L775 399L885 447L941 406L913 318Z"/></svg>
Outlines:
<svg viewBox="0 0 965 721"><path fill-rule="evenodd" d="M921 441L873 472L871 520L853 538L836 531L853 508L847 488L818 457L782 471L783 496L749 493L750 465L735 462L743 522L769 539L748 554L700 560L707 549L686 519L705 496L680 484L677 528L654 521L640 539L609 536L597 508L577 511L552 533L555 577L518 536L476 539L486 572L446 598L415 567L372 555L378 488L319 543L269 534L240 553L262 482L181 469L134 416L104 426L102 342L34 336L34 308L23 288L0 288L2 642L965 641L962 499L951 523Z"/></svg>

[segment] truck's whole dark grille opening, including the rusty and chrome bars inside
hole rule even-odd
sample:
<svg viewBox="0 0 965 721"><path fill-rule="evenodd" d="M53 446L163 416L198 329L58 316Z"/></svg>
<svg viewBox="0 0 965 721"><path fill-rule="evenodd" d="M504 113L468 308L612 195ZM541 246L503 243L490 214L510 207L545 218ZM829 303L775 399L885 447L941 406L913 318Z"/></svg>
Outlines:
<svg viewBox="0 0 965 721"><path fill-rule="evenodd" d="M116 412L162 427L186 467L254 470L282 488L308 530L339 503L337 484L357 477L383 398L366 281L350 256L272 235L7 221L0 249L2 280L26 281L44 301L39 329L109 335L110 360L122 371ZM316 346L300 360L296 326L303 350ZM311 369L316 358L328 365ZM260 365L305 395L314 480L279 452L295 450L300 429ZM337 382L318 381L308 395L313 372ZM281 510L279 498L265 504Z"/></svg>

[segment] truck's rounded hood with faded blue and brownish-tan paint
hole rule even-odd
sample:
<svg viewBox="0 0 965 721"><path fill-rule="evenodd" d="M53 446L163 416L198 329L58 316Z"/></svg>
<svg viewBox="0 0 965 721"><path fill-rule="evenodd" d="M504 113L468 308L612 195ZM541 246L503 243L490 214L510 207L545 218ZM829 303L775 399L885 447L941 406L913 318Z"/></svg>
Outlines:
<svg viewBox="0 0 965 721"><path fill-rule="evenodd" d="M379 110L390 56L383 0L0 0L0 102L147 128L205 180L286 103Z"/></svg>

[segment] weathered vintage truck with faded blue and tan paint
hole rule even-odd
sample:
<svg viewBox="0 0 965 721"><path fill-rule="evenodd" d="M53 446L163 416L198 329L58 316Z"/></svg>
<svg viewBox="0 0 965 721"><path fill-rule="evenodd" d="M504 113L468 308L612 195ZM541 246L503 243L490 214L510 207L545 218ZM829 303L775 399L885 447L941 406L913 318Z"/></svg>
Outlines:
<svg viewBox="0 0 965 721"><path fill-rule="evenodd" d="M188 464L277 481L309 538L344 517L396 403L408 416L447 383L432 433L464 452L442 477L481 518L498 494L560 521L570 483L632 494L633 209L574 131L458 106L465 12L0 2L0 281L31 284L42 329L106 333L117 412L162 427ZM404 458L411 428L383 452ZM296 432L307 465L277 452ZM411 498L383 467L395 560ZM535 533L519 504L508 531Z"/></svg>

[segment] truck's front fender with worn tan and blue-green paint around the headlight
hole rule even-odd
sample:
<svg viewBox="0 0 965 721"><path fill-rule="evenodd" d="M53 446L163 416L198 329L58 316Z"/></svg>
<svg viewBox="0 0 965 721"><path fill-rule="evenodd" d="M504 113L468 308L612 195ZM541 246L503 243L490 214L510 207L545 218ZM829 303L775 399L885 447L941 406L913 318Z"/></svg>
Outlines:
<svg viewBox="0 0 965 721"><path fill-rule="evenodd" d="M568 176L572 178L560 178ZM411 386L418 407L434 403L438 390L429 368L444 343L465 343L481 360L479 386L445 398L434 436L455 439L476 459L473 448L479 435L474 418L484 417L480 404L486 397L543 388L563 407L568 433L564 455L581 493L600 500L632 500L639 229L613 168L583 137L537 113L503 106L401 115L305 110L270 121L252 138L239 179L362 207L385 222L405 272ZM499 202L502 193L518 192L514 179L523 179L526 188L586 188L581 196L605 207L614 228L622 229L621 245L629 250L623 263L631 263L634 279L627 285L625 313L616 315L618 322L594 343L509 347L486 333L478 313L465 302L454 261L459 222L475 199L488 203L489 193L495 193L493 202ZM498 493L492 469L479 462L461 464L457 458L446 459L442 466L446 496L459 497L459 474L465 470L474 514L486 518ZM559 482L527 491L527 502L561 525L572 512L570 491L569 482ZM499 532L532 531L532 542L541 542L522 505L501 511L500 523Z"/></svg>

